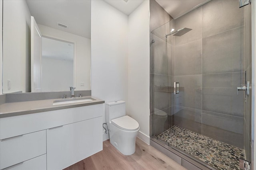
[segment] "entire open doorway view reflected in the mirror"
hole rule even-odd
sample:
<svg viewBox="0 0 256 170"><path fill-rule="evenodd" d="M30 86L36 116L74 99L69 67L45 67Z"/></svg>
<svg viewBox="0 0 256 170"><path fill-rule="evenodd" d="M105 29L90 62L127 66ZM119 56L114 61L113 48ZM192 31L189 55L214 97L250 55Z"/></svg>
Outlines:
<svg viewBox="0 0 256 170"><path fill-rule="evenodd" d="M73 65L73 43L42 37L42 92L69 90Z"/></svg>

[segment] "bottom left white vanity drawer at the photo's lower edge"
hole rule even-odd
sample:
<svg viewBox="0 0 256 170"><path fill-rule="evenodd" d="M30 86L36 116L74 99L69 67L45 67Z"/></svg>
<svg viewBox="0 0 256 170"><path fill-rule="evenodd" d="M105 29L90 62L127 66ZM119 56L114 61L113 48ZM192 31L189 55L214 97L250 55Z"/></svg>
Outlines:
<svg viewBox="0 0 256 170"><path fill-rule="evenodd" d="M3 170L46 170L46 154L15 164Z"/></svg>

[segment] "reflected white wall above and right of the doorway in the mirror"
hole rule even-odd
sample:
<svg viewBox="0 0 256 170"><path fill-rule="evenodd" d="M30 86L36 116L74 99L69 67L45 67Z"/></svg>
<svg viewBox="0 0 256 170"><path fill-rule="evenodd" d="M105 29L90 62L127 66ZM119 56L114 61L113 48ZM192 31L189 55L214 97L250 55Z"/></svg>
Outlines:
<svg viewBox="0 0 256 170"><path fill-rule="evenodd" d="M91 40L85 37L74 35L65 31L60 31L45 25L38 24L44 36L69 41L75 43L74 51L76 55L75 87L76 90L90 90L90 69L91 69ZM64 69L64 68L63 68ZM68 68L66 68L68 69ZM72 69L72 68L71 68ZM84 82L84 86L80 86ZM60 90L58 90L60 91Z"/></svg>

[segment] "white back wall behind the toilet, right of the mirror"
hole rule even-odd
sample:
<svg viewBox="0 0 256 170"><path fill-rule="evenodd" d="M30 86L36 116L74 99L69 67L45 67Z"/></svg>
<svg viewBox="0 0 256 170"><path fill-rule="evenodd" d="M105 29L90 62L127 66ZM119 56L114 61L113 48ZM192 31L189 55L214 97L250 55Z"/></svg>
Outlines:
<svg viewBox="0 0 256 170"><path fill-rule="evenodd" d="M102 0L93 0L91 17L92 96L105 103L125 100L128 16Z"/></svg>

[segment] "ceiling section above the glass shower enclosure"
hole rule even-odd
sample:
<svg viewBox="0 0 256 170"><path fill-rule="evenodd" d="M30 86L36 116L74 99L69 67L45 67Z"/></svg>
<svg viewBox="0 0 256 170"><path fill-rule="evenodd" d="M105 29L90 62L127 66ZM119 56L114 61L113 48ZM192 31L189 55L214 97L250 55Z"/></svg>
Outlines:
<svg viewBox="0 0 256 170"><path fill-rule="evenodd" d="M156 2L174 19L208 1L209 0L156 0Z"/></svg>

